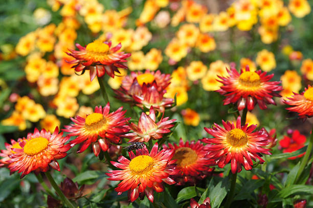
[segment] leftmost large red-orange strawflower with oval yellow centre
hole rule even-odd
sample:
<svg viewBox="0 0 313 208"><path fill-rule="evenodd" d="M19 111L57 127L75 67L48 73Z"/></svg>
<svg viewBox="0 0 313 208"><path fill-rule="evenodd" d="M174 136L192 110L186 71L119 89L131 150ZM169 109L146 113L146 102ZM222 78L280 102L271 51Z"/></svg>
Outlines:
<svg viewBox="0 0 313 208"><path fill-rule="evenodd" d="M32 171L46 172L49 170L48 165L60 171L56 160L65 157L71 148L70 144L65 145L70 136L62 135L63 132L59 133L58 128L52 134L44 129L39 132L35 128L34 133L29 133L27 138L19 139L19 146L15 143L7 148L8 151L14 152L9 155L10 159L6 160L8 169L11 173L22 173L21 178Z"/></svg>

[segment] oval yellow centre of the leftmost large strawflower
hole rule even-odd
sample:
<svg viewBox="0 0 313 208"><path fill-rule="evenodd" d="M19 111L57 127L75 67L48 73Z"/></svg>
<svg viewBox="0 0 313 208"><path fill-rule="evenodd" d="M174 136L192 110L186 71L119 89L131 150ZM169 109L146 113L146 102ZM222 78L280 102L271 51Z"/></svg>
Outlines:
<svg viewBox="0 0 313 208"><path fill-rule="evenodd" d="M26 145L24 146L24 152L29 156L33 156L47 149L48 144L49 141L47 138L41 136L33 138L32 140L27 141Z"/></svg>

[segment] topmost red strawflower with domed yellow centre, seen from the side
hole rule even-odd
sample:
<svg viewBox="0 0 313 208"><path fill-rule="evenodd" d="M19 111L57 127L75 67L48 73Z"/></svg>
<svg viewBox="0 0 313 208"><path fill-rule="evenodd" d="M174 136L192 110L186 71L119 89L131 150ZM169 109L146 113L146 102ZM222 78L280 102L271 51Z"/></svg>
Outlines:
<svg viewBox="0 0 313 208"><path fill-rule="evenodd" d="M119 72L118 67L127 68L122 62L126 62L125 59L131 54L118 52L122 47L121 43L114 48L111 48L111 44L111 41L95 40L87 44L86 47L82 47L76 43L79 51L69 49L70 53L66 54L73 56L75 60L68 61L68 63L76 64L73 66L76 72L90 70L91 81L93 81L96 75L102 77L105 73L114 78L114 73Z"/></svg>

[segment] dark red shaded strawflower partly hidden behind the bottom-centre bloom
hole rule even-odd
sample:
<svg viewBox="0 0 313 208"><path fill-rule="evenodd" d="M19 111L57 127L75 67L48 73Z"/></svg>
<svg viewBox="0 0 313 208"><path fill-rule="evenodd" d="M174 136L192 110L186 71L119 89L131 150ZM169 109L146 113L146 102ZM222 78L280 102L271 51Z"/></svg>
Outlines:
<svg viewBox="0 0 313 208"><path fill-rule="evenodd" d="M210 158L206 158L207 151L205 146L200 141L183 142L180 139L180 144L163 145L163 149L171 149L175 151L173 159L176 159L175 164L180 172L172 175L171 178L175 180L177 185L182 186L185 183L195 184L199 180L203 180L211 174L212 168L216 163Z"/></svg>

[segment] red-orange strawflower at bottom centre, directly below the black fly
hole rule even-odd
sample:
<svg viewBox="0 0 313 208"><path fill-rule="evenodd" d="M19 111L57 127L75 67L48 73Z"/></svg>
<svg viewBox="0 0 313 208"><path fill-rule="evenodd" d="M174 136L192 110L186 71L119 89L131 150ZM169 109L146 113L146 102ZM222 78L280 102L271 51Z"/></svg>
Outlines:
<svg viewBox="0 0 313 208"><path fill-rule="evenodd" d="M139 153L140 152L140 153ZM111 161L111 164L122 170L109 170L106 175L108 180L122 180L115 191L119 195L128 191L128 199L135 201L139 195L153 202L153 192L163 192L163 181L167 184L174 184L175 181L169 176L177 174L174 161L173 150L158 151L158 143L155 143L149 153L147 148L144 151L129 152L130 160L124 156L119 156L118 161Z"/></svg>

